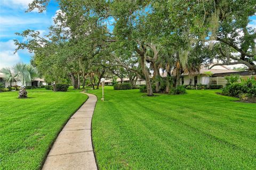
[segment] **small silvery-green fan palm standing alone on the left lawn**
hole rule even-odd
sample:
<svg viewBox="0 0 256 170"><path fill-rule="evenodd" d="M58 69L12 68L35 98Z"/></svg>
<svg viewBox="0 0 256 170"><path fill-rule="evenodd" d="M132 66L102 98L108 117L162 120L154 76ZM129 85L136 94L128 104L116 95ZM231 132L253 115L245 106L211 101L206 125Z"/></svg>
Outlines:
<svg viewBox="0 0 256 170"><path fill-rule="evenodd" d="M30 64L17 63L12 68L14 78L21 81L21 88L19 91L19 98L27 98L26 84L36 78L36 68Z"/></svg>

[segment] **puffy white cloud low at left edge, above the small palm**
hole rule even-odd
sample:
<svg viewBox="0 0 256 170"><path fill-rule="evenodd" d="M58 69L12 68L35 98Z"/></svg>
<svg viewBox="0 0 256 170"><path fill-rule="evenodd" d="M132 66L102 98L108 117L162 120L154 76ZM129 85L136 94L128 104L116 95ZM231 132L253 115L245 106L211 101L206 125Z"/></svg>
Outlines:
<svg viewBox="0 0 256 170"><path fill-rule="evenodd" d="M21 61L18 53L14 53L16 46L13 40L0 42L0 69L6 66L12 66Z"/></svg>

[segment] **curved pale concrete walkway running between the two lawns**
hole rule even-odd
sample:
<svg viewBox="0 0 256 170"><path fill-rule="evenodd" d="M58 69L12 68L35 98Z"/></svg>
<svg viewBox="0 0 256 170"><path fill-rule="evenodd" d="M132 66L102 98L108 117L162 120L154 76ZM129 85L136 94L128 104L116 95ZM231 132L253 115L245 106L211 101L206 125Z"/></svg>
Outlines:
<svg viewBox="0 0 256 170"><path fill-rule="evenodd" d="M97 169L91 137L91 121L97 97L86 95L89 96L87 101L70 118L54 142L43 170Z"/></svg>

